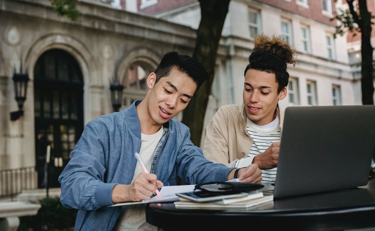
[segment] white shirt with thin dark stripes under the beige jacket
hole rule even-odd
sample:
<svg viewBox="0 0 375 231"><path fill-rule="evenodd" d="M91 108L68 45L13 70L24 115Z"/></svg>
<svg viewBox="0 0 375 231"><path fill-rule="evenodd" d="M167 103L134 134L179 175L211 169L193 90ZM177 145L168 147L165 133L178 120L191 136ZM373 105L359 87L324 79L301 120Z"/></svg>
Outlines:
<svg viewBox="0 0 375 231"><path fill-rule="evenodd" d="M279 118L276 116L270 124L264 126L258 126L254 124L250 119L247 119L246 131L253 140L251 149L249 151L248 157L242 158L236 162L234 167L247 167L250 165L254 157L258 154L262 154L269 148L269 144L265 141L270 142L280 142L281 130L279 126ZM276 180L276 168L262 170L262 183L273 182Z"/></svg>

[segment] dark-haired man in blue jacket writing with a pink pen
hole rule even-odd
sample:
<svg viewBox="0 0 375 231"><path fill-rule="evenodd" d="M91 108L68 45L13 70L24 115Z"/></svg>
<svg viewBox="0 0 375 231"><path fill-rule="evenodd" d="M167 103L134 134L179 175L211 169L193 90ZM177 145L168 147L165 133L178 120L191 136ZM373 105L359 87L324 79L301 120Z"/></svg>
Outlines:
<svg viewBox="0 0 375 231"><path fill-rule="evenodd" d="M144 205L107 207L148 200L157 188L233 179L237 169L208 161L190 141L189 128L172 119L207 79L204 67L169 52L147 77L144 100L90 121L59 177L60 201L79 209L75 230L157 230L145 221ZM137 164L138 152L149 174ZM256 164L236 172L260 183Z"/></svg>

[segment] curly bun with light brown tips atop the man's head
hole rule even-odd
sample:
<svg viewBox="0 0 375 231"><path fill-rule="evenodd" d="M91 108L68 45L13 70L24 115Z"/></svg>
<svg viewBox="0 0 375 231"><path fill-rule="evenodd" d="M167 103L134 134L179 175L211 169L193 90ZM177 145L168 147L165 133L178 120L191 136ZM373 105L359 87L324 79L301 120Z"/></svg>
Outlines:
<svg viewBox="0 0 375 231"><path fill-rule="evenodd" d="M284 60L285 64L296 65L296 60L294 60L296 50L280 35L269 37L265 34L259 34L254 39L254 51L260 49L272 51L273 54Z"/></svg>

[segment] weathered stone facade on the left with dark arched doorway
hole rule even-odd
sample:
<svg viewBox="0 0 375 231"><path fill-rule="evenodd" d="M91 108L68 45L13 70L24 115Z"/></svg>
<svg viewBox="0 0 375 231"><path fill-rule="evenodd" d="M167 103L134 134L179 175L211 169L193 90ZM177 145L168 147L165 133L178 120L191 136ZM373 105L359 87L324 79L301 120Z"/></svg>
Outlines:
<svg viewBox="0 0 375 231"><path fill-rule="evenodd" d="M0 0L0 171L35 166L33 184L39 187L46 146L49 187L59 187L57 177L84 125L114 111L114 78L125 86L123 109L143 98L144 79L166 52L193 51L192 28L98 1L77 4L81 16L71 21L56 15L49 0ZM14 69L30 80L24 115L11 121L10 112L18 109ZM0 185L12 181L17 179L0 173Z"/></svg>

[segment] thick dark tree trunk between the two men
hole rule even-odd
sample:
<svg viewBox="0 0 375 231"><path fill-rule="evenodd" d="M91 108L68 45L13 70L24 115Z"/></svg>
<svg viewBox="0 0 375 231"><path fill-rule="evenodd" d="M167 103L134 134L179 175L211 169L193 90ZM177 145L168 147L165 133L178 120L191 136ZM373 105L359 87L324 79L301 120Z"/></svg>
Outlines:
<svg viewBox="0 0 375 231"><path fill-rule="evenodd" d="M183 112L182 122L190 128L191 140L199 146L203 129L204 115L207 108L213 82L217 48L221 31L228 13L230 0L199 0L201 5L201 22L197 31L193 58L202 63L208 72L199 91L190 100Z"/></svg>

